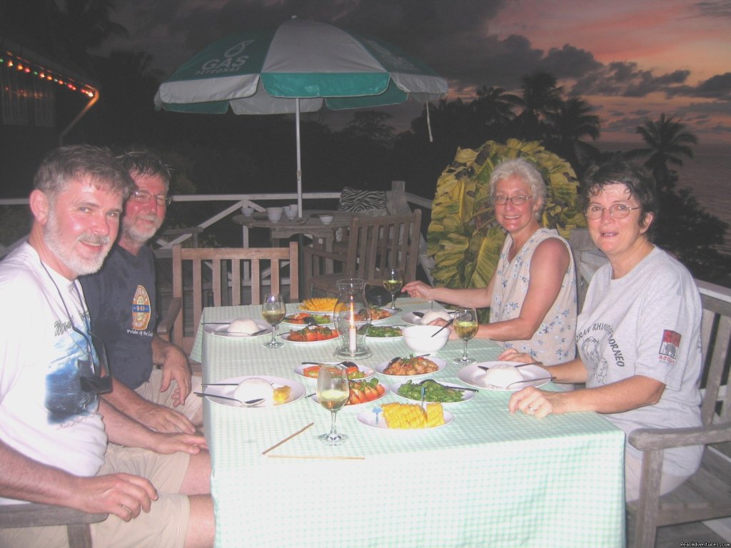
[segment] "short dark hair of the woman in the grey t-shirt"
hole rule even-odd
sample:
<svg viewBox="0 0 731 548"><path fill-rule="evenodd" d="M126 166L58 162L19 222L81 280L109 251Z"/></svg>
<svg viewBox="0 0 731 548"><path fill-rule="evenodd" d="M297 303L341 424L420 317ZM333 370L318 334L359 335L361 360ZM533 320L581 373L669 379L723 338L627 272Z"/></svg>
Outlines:
<svg viewBox="0 0 731 548"><path fill-rule="evenodd" d="M654 216L657 221L659 213L659 202L655 189L655 181L645 170L626 161L617 154L603 164L594 165L586 170L581 184L580 199L581 205L586 210L591 197L596 196L607 185L621 184L627 187L629 194L637 200L640 205L640 226L645 226L645 219L648 213ZM653 232L652 223L646 232L650 239Z"/></svg>

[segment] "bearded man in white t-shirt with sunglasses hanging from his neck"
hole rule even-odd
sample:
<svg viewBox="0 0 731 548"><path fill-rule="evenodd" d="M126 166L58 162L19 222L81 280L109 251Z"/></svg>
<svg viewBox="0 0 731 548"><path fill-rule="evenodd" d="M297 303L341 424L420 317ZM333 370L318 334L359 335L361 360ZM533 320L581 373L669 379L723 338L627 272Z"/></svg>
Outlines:
<svg viewBox="0 0 731 548"><path fill-rule="evenodd" d="M88 145L37 172L28 240L0 262L0 504L108 513L91 525L96 548L211 546L205 438L154 432L99 398L104 351L77 277L101 267L131 189ZM2 547L67 545L63 526L0 529Z"/></svg>

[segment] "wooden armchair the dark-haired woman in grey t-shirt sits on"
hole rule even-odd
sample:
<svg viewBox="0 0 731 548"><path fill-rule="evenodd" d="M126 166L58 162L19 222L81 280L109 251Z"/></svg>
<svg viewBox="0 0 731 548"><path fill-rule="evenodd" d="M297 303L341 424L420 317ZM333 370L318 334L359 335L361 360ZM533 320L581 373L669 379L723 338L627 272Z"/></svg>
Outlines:
<svg viewBox="0 0 731 548"><path fill-rule="evenodd" d="M698 282L698 286L714 287L705 282ZM627 503L637 518L637 548L653 547L656 528L662 525L731 516L731 391L724 385L731 361L731 305L708 293L701 294L705 362L702 426L643 428L629 435L629 443L643 451L640 499ZM659 497L664 449L689 445L705 446L699 470L678 489Z"/></svg>

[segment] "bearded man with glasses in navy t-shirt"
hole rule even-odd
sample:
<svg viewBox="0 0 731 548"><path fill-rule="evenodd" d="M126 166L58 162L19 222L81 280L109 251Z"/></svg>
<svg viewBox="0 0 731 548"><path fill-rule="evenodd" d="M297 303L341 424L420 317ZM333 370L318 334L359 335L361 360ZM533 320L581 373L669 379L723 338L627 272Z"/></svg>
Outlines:
<svg viewBox="0 0 731 548"><path fill-rule="evenodd" d="M124 205L120 236L99 272L80 278L91 325L107 347L116 408L159 432L194 433L202 403L185 353L155 333L155 264L148 241L170 204L170 170L148 151L118 156L137 188ZM160 369L154 368L160 365Z"/></svg>

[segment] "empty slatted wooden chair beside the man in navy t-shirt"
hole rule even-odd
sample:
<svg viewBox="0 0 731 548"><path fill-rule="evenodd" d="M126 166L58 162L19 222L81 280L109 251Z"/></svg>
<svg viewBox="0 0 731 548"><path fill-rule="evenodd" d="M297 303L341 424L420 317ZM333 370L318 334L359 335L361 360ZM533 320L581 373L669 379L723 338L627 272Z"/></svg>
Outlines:
<svg viewBox="0 0 731 548"><path fill-rule="evenodd" d="M281 268L289 262L289 301L299 300L299 257L297 243L289 248L182 248L173 247L173 300L181 306L173 321L172 341L190 354L195 330L205 306L259 304L262 286L281 292ZM186 266L190 264L191 270ZM250 278L248 273L250 273ZM265 282L264 275L270 278ZM185 283L192 276L192 286ZM243 288L251 288L246 300ZM189 295L192 293L192 298ZM176 304L175 302L173 304ZM189 314L189 312L192 312ZM170 331L169 323L162 322ZM192 333L185 324L192 325Z"/></svg>

